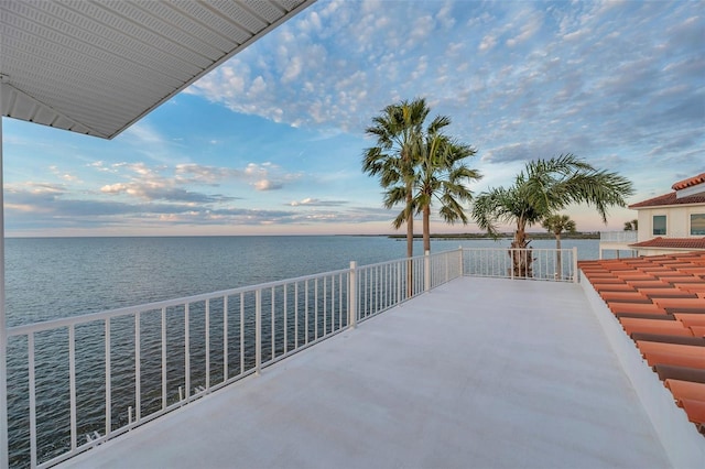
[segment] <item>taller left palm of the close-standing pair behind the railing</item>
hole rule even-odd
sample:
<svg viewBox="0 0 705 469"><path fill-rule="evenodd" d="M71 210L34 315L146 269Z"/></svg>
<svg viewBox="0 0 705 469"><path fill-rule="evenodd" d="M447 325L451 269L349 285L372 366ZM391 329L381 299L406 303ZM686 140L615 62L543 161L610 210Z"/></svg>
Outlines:
<svg viewBox="0 0 705 469"><path fill-rule="evenodd" d="M394 228L406 223L406 257L413 257L414 205L413 183L421 153L423 122L429 116L429 107L424 98L413 101L402 100L387 106L382 112L372 118L372 126L365 132L377 139L376 146L365 150L362 171L380 177L384 188L384 206L403 201L404 216L394 220ZM392 196L393 194L393 196Z"/></svg>

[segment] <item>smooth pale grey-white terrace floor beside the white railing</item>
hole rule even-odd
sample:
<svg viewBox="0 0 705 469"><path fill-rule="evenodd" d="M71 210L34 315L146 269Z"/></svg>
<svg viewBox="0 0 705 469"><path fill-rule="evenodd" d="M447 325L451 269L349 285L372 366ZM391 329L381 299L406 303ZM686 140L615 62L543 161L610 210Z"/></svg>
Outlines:
<svg viewBox="0 0 705 469"><path fill-rule="evenodd" d="M579 285L464 277L63 468L663 468Z"/></svg>

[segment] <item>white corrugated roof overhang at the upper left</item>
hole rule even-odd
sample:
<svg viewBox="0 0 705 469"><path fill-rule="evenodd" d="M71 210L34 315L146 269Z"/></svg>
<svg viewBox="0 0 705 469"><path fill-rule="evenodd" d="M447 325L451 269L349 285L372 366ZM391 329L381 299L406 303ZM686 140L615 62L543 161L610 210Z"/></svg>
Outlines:
<svg viewBox="0 0 705 469"><path fill-rule="evenodd" d="M2 116L112 139L315 0L0 0Z"/></svg>

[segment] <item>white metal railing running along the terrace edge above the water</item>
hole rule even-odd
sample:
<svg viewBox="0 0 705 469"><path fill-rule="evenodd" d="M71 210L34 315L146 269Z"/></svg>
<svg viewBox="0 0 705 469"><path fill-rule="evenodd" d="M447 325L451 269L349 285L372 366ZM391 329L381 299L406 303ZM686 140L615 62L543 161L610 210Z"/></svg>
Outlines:
<svg viewBox="0 0 705 469"><path fill-rule="evenodd" d="M453 279L512 277L508 252L458 249L351 262L339 271L9 328L10 466L58 463ZM524 254L533 259L534 279L576 280L575 250Z"/></svg>

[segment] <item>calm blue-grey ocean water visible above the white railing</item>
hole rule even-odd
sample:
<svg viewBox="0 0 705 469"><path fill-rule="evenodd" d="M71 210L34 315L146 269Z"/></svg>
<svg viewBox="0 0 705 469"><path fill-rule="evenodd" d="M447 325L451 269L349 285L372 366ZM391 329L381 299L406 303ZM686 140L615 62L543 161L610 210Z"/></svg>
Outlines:
<svg viewBox="0 0 705 469"><path fill-rule="evenodd" d="M432 252L508 247L507 240L432 240ZM534 248L553 248L536 240ZM564 240L597 259L597 240ZM8 239L8 325L97 313L401 259L387 237L188 237ZM421 254L421 241L415 243Z"/></svg>

